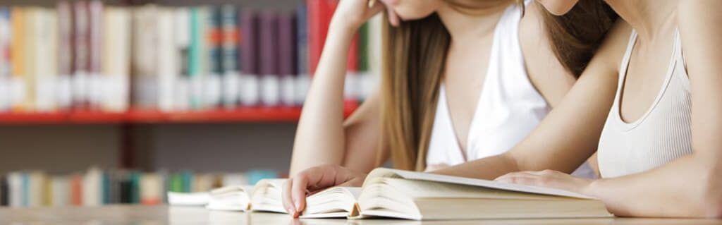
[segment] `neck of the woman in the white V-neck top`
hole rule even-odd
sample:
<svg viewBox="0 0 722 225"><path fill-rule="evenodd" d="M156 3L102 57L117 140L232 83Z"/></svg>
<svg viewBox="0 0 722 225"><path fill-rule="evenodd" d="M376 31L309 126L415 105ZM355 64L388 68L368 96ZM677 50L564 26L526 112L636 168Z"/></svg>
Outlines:
<svg viewBox="0 0 722 225"><path fill-rule="evenodd" d="M437 13L453 43L473 43L493 33L504 9L513 1L482 1L474 9L443 4Z"/></svg>

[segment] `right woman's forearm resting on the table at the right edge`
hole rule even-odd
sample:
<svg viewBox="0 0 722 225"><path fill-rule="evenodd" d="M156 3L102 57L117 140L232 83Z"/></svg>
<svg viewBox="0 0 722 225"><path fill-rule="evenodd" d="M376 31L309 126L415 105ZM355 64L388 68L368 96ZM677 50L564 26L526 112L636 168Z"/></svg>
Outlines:
<svg viewBox="0 0 722 225"><path fill-rule="evenodd" d="M596 180L583 194L603 200L617 216L719 216L719 175L713 164L684 156L648 172Z"/></svg>

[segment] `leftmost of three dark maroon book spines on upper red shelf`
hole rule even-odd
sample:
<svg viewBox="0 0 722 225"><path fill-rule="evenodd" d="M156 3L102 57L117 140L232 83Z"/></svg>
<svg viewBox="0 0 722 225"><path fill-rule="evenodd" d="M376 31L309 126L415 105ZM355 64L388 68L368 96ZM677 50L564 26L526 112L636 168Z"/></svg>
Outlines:
<svg viewBox="0 0 722 225"><path fill-rule="evenodd" d="M71 74L74 65L73 15L68 1L58 1L58 81L56 102L58 110L69 110L73 103Z"/></svg>

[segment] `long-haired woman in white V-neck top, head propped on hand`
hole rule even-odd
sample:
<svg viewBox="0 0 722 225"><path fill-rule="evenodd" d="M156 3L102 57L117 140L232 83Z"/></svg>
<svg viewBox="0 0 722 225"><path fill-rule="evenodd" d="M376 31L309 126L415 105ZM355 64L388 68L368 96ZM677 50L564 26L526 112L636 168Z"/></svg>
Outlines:
<svg viewBox="0 0 722 225"><path fill-rule="evenodd" d="M361 182L322 176L329 171L295 177L311 167L369 172L391 158L396 168L425 171L508 151L562 100L616 18L601 0L565 17L513 0L381 2L342 0L331 21L284 190L294 216L305 191ZM344 121L344 56L383 9L390 25L380 90Z"/></svg>

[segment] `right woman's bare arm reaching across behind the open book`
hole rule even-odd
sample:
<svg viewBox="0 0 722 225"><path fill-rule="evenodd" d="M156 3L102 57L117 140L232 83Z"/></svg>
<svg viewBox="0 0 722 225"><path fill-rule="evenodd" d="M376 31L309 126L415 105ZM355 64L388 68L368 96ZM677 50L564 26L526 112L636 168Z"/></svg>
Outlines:
<svg viewBox="0 0 722 225"><path fill-rule="evenodd" d="M616 65L629 32L630 28L623 22L614 27L610 38L566 97L513 149L437 173L488 180L525 170L573 172L596 151L617 90Z"/></svg>

